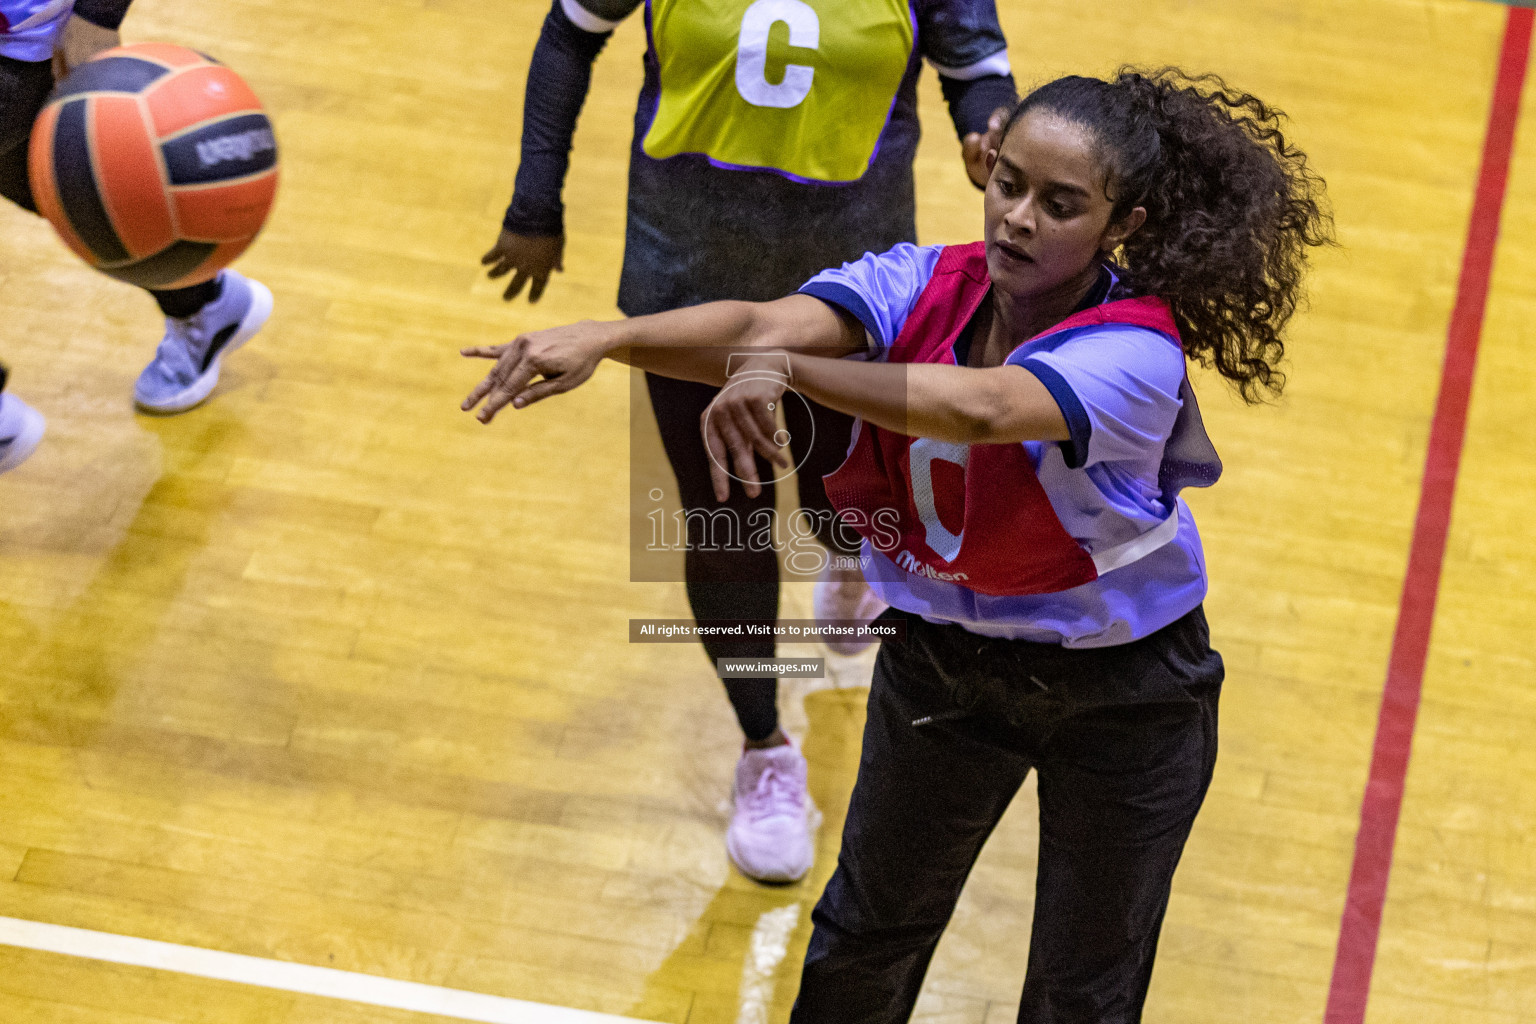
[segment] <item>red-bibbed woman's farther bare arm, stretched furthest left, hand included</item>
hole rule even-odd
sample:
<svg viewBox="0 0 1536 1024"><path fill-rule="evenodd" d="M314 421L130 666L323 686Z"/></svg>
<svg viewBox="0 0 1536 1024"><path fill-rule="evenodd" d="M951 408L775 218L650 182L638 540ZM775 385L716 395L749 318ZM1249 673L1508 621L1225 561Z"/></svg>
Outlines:
<svg viewBox="0 0 1536 1024"><path fill-rule="evenodd" d="M731 356L763 352L816 352L846 356L865 350L863 327L854 316L808 295L773 302L705 302L622 321L582 321L519 335L505 345L464 348L470 358L496 365L464 399L465 411L481 405L488 424L502 407L525 408L568 391L604 358L682 381L722 385Z"/></svg>

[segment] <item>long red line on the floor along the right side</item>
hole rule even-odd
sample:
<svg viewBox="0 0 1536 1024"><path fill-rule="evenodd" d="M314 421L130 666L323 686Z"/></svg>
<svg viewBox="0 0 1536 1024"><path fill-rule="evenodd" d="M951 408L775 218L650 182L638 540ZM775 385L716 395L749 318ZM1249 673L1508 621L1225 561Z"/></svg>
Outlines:
<svg viewBox="0 0 1536 1024"><path fill-rule="evenodd" d="M1366 1019L1370 972L1376 961L1376 940L1381 933L1381 910L1387 901L1392 846L1398 834L1398 814L1402 809L1402 783L1409 772L1424 663L1428 659L1430 628L1435 623L1435 597L1445 556L1445 534L1450 530L1452 502L1456 494L1456 470L1461 465L1462 439L1467 431L1467 405L1471 401L1471 378L1478 365L1478 339L1482 335L1482 315L1488 304L1488 278L1499 238L1504 186L1508 181L1514 124L1519 120L1521 89L1525 84L1525 64L1530 57L1531 20L1533 12L1528 8L1511 8L1504 26L1493 109L1488 112L1488 132L1482 146L1482 167L1478 172L1478 192L1471 206L1471 224L1467 229L1467 247L1462 252L1461 279L1456 286L1456 306L1452 309L1447 332L1439 398L1430 425L1419 511L1409 550L1409 571L1402 580L1398 628L1392 637L1387 683L1381 694L1370 780L1366 783L1366 797L1359 809L1355 864L1344 898L1333 981L1329 986L1329 1004L1322 1018L1326 1024L1362 1024Z"/></svg>

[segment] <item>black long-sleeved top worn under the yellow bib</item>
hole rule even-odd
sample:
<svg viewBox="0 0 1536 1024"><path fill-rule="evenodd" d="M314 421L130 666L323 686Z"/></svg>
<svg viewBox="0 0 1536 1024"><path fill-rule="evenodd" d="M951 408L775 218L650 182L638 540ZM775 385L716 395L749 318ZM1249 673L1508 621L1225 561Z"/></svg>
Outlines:
<svg viewBox="0 0 1536 1024"><path fill-rule="evenodd" d="M774 2L779 9L799 3ZM634 6L637 0L554 0L528 68L522 161L507 229L562 232L561 189L591 64ZM619 282L619 307L627 315L722 298L779 298L829 266L915 239L912 157L922 58L940 72L960 137L985 132L992 111L1015 103L1017 94L992 0L911 0L909 11L914 45L874 154L862 177L836 184L722 166L708 154L650 157L645 138L657 114L662 74L654 32L648 32ZM650 8L647 28L653 28Z"/></svg>

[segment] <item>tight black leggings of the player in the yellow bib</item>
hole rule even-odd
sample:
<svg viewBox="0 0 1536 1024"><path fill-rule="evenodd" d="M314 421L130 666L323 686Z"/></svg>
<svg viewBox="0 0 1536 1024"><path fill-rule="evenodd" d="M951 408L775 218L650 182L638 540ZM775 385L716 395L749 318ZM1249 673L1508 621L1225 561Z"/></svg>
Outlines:
<svg viewBox="0 0 1536 1024"><path fill-rule="evenodd" d="M759 510L774 508L774 485L762 494L746 497L731 481L731 497L723 505L714 499L710 484L710 462L699 431L699 419L720 388L693 381L645 375L660 427L662 447L677 477L684 510L728 508L739 522L750 522ZM800 508L816 516L817 539L834 553L857 554L856 537L845 530L833 530L833 507L826 500L822 477L839 465L848 453L852 418L796 398L783 402L785 427L790 430L790 451L794 457ZM813 441L814 438L814 441ZM803 462L802 462L803 459ZM760 479L773 479L773 467L757 461ZM699 530L696 531L694 527ZM702 517L690 517L688 548L684 554L684 580L694 619L750 619L771 622L779 617L779 557L774 551L710 551L703 537ZM843 536L837 536L843 534ZM727 642L707 639L703 651L710 660L722 657L773 657L774 642ZM725 692L736 709L736 720L748 740L762 740L779 728L779 683L773 679L742 679L725 683Z"/></svg>

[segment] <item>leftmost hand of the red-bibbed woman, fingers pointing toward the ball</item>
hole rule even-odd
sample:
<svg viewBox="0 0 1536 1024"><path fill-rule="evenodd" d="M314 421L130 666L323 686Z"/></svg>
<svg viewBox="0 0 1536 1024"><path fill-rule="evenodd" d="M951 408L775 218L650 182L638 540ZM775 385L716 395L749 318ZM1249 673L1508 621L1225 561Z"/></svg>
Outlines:
<svg viewBox="0 0 1536 1024"><path fill-rule="evenodd" d="M567 327L518 335L505 345L461 348L470 359L495 359L485 379L459 405L470 411L481 402L476 419L488 424L508 402L527 408L550 395L564 395L593 375L604 355L613 324L584 319ZM542 378L535 382L535 378Z"/></svg>

